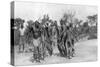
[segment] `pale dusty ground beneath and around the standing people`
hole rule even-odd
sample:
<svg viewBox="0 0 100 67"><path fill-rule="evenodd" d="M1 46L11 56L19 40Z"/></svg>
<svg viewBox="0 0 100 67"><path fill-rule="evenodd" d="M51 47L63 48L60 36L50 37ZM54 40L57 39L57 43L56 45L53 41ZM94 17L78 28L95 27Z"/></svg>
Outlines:
<svg viewBox="0 0 100 67"><path fill-rule="evenodd" d="M67 59L57 55L48 56L41 63L32 63L30 61L32 53L18 54L15 52L15 65L32 65L32 64L51 64L51 63L70 63L70 62L87 62L97 60L97 40L80 41L75 44L76 54L72 59ZM16 50L15 50L16 51ZM55 53L59 51L55 48Z"/></svg>

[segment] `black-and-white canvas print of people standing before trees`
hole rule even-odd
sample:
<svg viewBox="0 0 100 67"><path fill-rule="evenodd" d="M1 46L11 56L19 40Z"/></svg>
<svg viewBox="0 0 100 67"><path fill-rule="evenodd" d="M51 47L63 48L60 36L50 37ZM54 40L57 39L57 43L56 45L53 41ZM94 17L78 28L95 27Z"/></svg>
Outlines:
<svg viewBox="0 0 100 67"><path fill-rule="evenodd" d="M13 1L10 21L12 65L98 60L97 6Z"/></svg>

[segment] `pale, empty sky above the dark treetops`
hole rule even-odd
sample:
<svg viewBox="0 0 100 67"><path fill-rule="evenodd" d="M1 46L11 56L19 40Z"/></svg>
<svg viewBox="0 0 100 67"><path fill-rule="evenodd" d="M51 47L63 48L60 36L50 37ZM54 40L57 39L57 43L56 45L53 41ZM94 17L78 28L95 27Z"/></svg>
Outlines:
<svg viewBox="0 0 100 67"><path fill-rule="evenodd" d="M50 19L59 21L64 13L75 12L75 17L81 20L86 20L88 15L98 13L96 6L86 5L67 5L67 4L52 4L52 3L34 3L34 2L15 2L14 7L15 18L24 20L38 20L44 14L48 14Z"/></svg>

